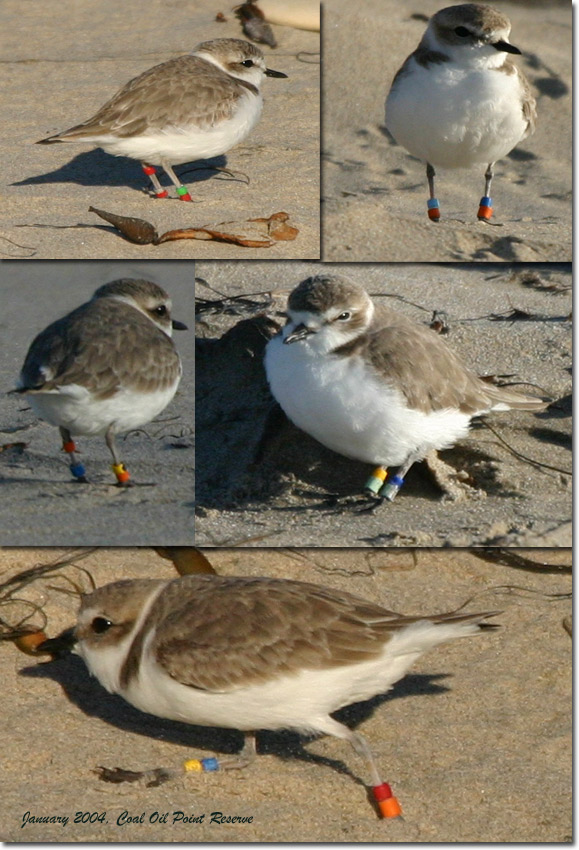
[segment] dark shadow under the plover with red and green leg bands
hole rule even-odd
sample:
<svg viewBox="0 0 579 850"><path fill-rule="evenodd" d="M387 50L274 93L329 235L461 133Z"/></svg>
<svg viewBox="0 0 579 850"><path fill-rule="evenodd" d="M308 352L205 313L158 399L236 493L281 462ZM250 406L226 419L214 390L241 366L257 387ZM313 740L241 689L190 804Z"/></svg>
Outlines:
<svg viewBox="0 0 579 850"><path fill-rule="evenodd" d="M196 163L184 163L175 170L182 176L183 182L201 183L215 177L216 168L224 168L225 156L216 156ZM161 168L158 174L163 185L171 181ZM113 157L100 148L83 151L54 171L37 174L12 183L12 186L35 186L47 183L76 183L79 186L131 186L135 189L149 189L149 179L143 174L139 164L126 157Z"/></svg>

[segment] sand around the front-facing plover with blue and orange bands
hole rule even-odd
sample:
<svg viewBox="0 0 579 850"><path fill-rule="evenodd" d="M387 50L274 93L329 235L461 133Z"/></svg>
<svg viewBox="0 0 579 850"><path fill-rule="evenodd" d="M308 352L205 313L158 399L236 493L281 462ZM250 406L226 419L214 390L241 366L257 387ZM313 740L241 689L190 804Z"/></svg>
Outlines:
<svg viewBox="0 0 579 850"><path fill-rule="evenodd" d="M535 134L497 163L493 222L477 221L483 168L440 169L441 220L424 165L384 129L392 79L442 0L332 0L324 19L324 259L571 259L571 3L494 2L512 22L537 99ZM345 58L347 56L347 62Z"/></svg>

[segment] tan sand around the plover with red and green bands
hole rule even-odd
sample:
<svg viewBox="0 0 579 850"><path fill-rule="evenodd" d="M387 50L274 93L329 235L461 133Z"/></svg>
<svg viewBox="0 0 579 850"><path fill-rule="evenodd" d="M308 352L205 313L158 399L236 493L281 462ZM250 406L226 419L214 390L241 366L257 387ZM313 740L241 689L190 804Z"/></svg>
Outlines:
<svg viewBox="0 0 579 850"><path fill-rule="evenodd" d="M212 0L5 0L0 251L34 259L312 258L320 256L319 34L274 27L266 61L287 80L266 78L265 105L251 135L213 165L237 178L177 166L195 203L149 196L136 160L86 145L36 146L91 117L141 72L188 53L201 41L239 38L231 9ZM222 11L227 23L217 23ZM197 164L199 165L199 163ZM245 178L250 178L246 185ZM169 185L169 180L167 185ZM174 194L174 190L173 190ZM134 245L89 206L174 228L289 213L300 234L269 249L216 242ZM13 245L7 240L13 240Z"/></svg>

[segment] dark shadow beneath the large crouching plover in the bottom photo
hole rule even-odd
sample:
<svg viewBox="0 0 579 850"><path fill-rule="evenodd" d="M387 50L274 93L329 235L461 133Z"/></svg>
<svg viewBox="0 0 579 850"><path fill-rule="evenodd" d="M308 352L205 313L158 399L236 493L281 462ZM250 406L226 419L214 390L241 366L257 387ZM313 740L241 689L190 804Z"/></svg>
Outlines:
<svg viewBox="0 0 579 850"><path fill-rule="evenodd" d="M157 738L177 746L222 755L237 754L243 745L242 733L236 730L194 726L165 720L133 708L122 697L107 693L98 681L89 675L84 662L74 655L67 655L33 667L25 667L20 671L20 675L35 679L53 679L62 687L68 701L84 714L89 717L98 717L105 723L131 734ZM432 696L448 691L449 687L442 684L441 680L448 678L449 675L446 673L410 674L394 685L387 694L378 694L364 702L353 703L335 712L333 716L338 722L350 728L356 728L385 702L420 694ZM350 776L360 785L365 784L344 762L304 749L305 740L311 739L291 731L262 730L258 733L257 748L263 755L275 755L281 759L299 759L325 765L338 773ZM346 757L349 760L348 748ZM98 756L95 755L95 760L97 759ZM145 769L142 764L131 765L131 768L135 767Z"/></svg>

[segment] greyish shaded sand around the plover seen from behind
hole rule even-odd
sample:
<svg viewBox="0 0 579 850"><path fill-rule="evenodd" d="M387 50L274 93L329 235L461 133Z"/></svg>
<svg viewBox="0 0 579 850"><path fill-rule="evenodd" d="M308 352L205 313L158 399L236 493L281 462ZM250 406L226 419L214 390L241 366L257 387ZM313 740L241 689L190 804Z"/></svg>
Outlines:
<svg viewBox="0 0 579 850"><path fill-rule="evenodd" d="M193 264L0 264L0 542L11 546L185 545L193 542ZM134 486L115 486L103 437L79 437L89 484L71 477L58 430L40 422L26 399L7 395L28 346L55 319L87 301L103 283L146 278L173 299L188 325L174 335L183 361L177 395L157 419L117 443Z"/></svg>

